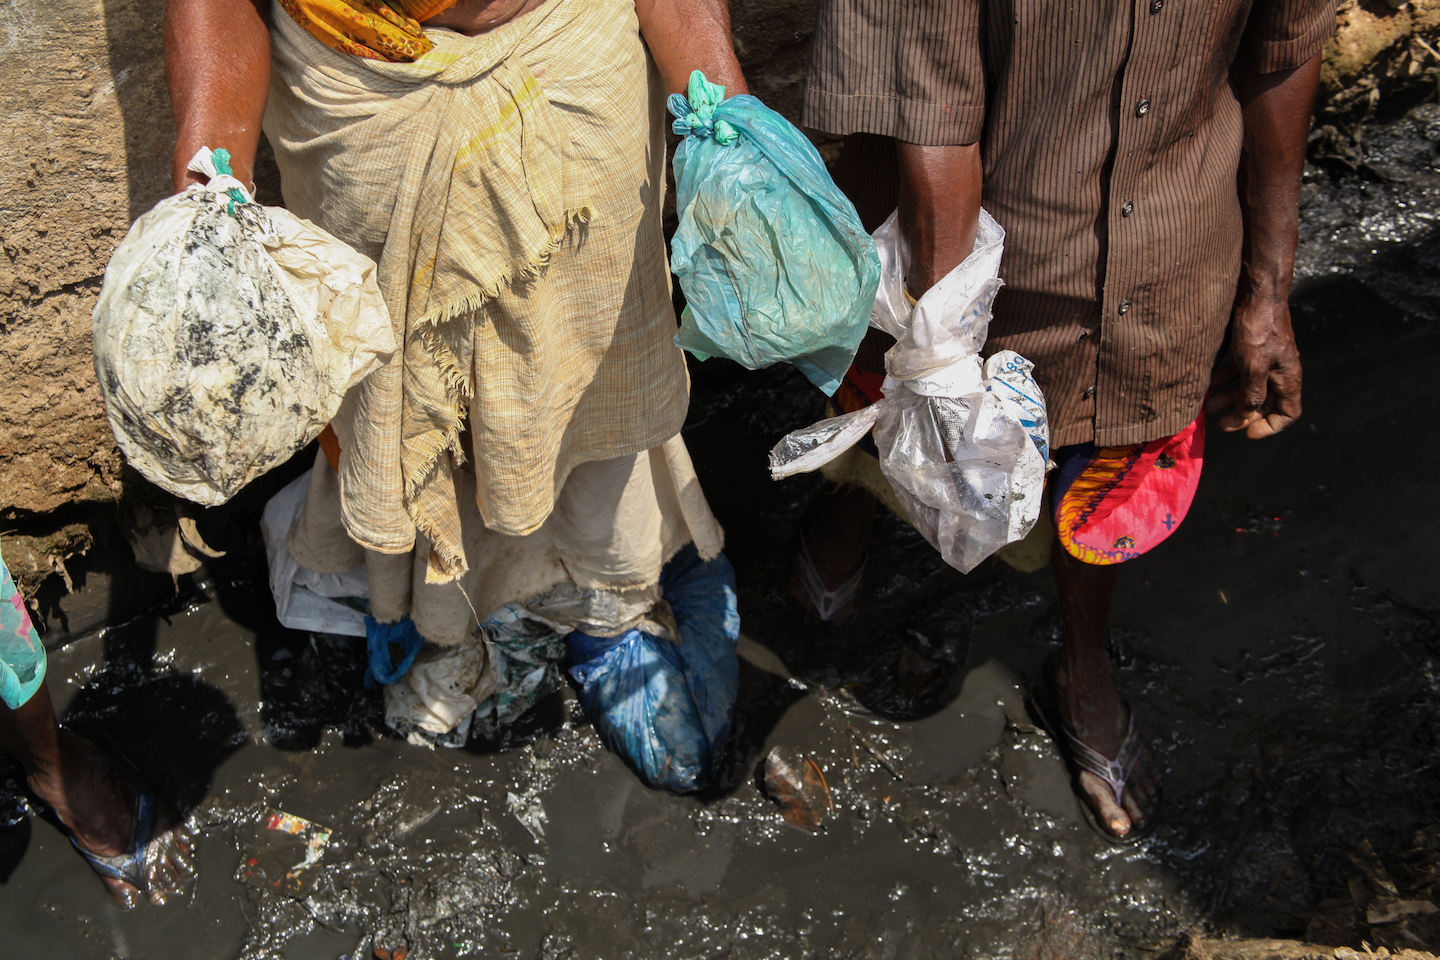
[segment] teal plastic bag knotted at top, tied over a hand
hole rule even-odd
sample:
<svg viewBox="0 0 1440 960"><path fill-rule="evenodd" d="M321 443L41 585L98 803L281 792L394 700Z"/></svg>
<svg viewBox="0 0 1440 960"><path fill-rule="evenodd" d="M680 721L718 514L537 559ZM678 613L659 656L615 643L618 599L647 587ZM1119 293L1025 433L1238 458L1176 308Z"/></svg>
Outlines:
<svg viewBox="0 0 1440 960"><path fill-rule="evenodd" d="M874 243L788 119L755 96L690 75L670 98L680 227L670 266L685 292L675 343L750 370L788 360L825 391L865 335Z"/></svg>

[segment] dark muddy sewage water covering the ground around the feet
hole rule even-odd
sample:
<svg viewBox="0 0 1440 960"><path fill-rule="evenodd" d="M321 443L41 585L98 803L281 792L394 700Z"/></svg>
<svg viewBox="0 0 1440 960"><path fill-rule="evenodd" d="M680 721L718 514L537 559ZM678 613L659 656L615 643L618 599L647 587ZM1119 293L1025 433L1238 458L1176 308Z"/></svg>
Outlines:
<svg viewBox="0 0 1440 960"><path fill-rule="evenodd" d="M687 439L746 632L723 789L639 786L569 689L503 743L396 740L357 645L279 629L245 560L52 651L62 708L109 723L202 829L190 902L112 908L12 770L7 953L1110 957L1197 924L1303 933L1359 839L1387 849L1440 815L1437 141L1421 107L1371 131L1375 168L1308 174L1305 420L1212 435L1185 525L1123 570L1117 678L1166 777L1152 838L1099 839L1025 711L1058 646L1048 571L962 577L883 520L854 623L788 604L815 484L772 484L765 452L818 397L793 371L710 361ZM756 787L775 746L822 770L819 833ZM248 869L298 859L261 830L269 809L333 830L288 889Z"/></svg>

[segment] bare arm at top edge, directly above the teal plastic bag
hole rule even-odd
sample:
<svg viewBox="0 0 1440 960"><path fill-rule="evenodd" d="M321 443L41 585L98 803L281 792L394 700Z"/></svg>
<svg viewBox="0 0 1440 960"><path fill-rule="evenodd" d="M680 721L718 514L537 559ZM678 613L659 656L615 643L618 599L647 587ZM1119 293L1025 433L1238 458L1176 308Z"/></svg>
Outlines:
<svg viewBox="0 0 1440 960"><path fill-rule="evenodd" d="M635 13L667 92L684 94L691 71L723 85L727 96L750 91L730 43L726 0L635 0Z"/></svg>

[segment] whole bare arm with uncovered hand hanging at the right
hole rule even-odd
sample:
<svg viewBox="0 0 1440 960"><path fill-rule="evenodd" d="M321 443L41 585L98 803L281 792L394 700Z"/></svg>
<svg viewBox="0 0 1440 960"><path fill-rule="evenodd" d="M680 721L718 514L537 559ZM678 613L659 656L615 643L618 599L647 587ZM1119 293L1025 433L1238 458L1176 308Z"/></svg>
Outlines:
<svg viewBox="0 0 1440 960"><path fill-rule="evenodd" d="M1230 410L1220 426L1250 439L1279 433L1300 416L1300 351L1289 301L1319 78L1319 53L1293 71L1234 73L1246 124L1237 184L1246 233L1230 321L1234 360L1215 371L1208 407Z"/></svg>

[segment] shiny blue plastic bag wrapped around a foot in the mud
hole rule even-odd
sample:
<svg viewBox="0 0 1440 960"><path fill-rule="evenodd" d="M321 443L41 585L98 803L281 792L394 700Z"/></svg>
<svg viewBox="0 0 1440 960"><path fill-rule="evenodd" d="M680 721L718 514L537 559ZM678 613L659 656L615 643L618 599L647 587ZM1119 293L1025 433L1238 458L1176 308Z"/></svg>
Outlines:
<svg viewBox="0 0 1440 960"><path fill-rule="evenodd" d="M710 786L730 735L740 689L740 615L724 554L701 560L694 544L665 564L661 589L675 639L631 629L570 633L570 676L606 746L647 783L672 793Z"/></svg>

